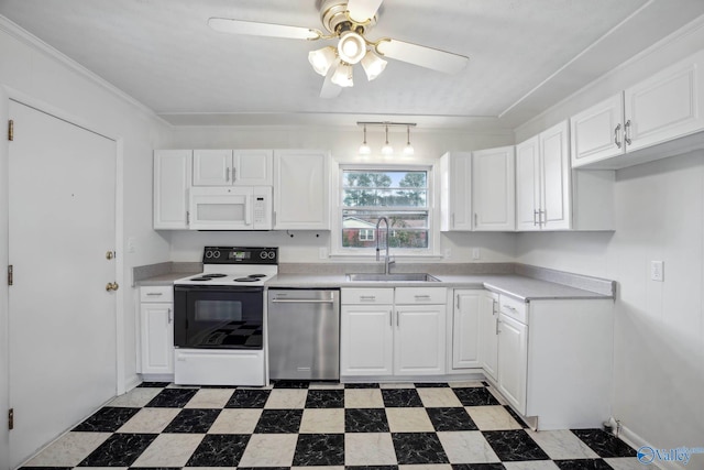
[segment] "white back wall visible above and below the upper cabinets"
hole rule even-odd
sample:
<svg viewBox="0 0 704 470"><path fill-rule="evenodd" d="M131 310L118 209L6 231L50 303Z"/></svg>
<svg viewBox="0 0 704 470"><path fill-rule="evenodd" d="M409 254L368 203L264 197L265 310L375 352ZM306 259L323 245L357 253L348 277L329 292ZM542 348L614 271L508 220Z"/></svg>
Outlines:
<svg viewBox="0 0 704 470"><path fill-rule="evenodd" d="M513 144L513 133L472 133L439 129L414 128L410 141L414 157L393 160L372 155L358 156L362 143L362 128L350 123L348 128L234 128L234 127L179 127L168 136L169 149L329 149L336 162L415 162L437 161L448 151L491 149ZM367 143L373 150L384 144L382 128L367 128ZM389 129L389 143L397 151L406 144L406 129ZM469 182L468 182L469 184ZM282 262L334 262L321 259L319 248L330 247L330 232L162 232L172 243L174 261L200 261L202 247L207 244L275 245L280 248ZM442 262L470 262L473 248L480 248L480 262L506 262L514 258L514 233L450 233L441 234L442 249L450 249L450 256ZM367 260L369 261L369 260ZM403 262L403 260L398 260Z"/></svg>

